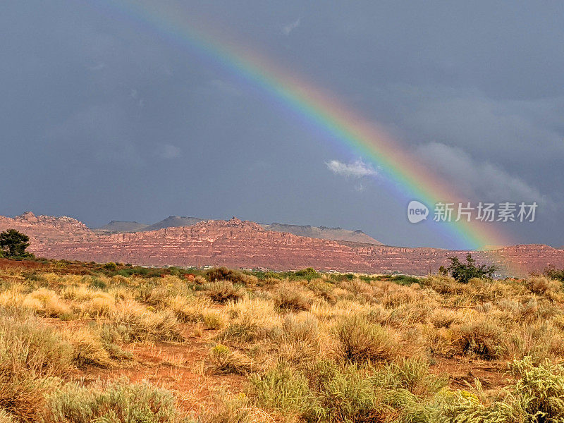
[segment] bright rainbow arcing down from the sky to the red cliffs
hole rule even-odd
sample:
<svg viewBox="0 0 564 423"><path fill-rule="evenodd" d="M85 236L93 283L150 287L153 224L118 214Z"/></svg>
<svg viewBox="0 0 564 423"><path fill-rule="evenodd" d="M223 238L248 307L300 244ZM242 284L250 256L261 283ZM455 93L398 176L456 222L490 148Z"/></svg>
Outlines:
<svg viewBox="0 0 564 423"><path fill-rule="evenodd" d="M229 72L259 88L293 115L322 130L330 142L376 166L400 201L419 200L430 208L436 202L466 203L455 187L422 166L400 142L350 107L323 92L312 83L233 42L231 37L212 34L190 23L186 11L169 2L149 4L146 0L100 0L96 6L110 14L135 20L168 42L211 59ZM336 141L335 141L336 140ZM464 250L491 245L512 245L498 226L479 221L437 223L446 240Z"/></svg>

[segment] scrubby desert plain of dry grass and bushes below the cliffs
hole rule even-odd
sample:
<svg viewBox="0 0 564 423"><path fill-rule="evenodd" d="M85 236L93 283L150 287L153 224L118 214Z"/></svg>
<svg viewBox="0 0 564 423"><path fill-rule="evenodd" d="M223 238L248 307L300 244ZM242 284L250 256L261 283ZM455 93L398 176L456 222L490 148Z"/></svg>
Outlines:
<svg viewBox="0 0 564 423"><path fill-rule="evenodd" d="M559 275L4 259L0 422L563 422Z"/></svg>

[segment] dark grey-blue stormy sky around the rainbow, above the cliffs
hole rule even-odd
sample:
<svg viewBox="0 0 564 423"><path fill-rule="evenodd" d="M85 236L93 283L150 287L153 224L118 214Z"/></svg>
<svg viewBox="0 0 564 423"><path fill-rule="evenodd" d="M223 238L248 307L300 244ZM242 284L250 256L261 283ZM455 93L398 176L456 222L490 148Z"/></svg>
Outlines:
<svg viewBox="0 0 564 423"><path fill-rule="evenodd" d="M366 158L99 3L0 3L0 214L89 226L235 215L461 246L408 223L411 199L391 195ZM537 221L503 229L564 245L563 3L153 4L180 4L305 75L470 200L537 201Z"/></svg>

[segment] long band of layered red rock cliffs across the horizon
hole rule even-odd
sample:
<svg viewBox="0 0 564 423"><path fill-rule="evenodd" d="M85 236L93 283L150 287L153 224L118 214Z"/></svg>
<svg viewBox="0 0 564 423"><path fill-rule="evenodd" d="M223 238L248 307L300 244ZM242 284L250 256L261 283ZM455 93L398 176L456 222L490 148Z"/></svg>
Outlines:
<svg viewBox="0 0 564 423"><path fill-rule="evenodd" d="M159 231L96 235L68 217L0 217L0 230L16 228L30 235L30 250L40 257L154 266L217 266L427 274L447 264L447 257L467 252L385 245L343 245L337 241L265 231L259 224L231 219L202 221ZM564 250L546 245L516 245L472 252L480 261L515 264L509 274L564 267Z"/></svg>

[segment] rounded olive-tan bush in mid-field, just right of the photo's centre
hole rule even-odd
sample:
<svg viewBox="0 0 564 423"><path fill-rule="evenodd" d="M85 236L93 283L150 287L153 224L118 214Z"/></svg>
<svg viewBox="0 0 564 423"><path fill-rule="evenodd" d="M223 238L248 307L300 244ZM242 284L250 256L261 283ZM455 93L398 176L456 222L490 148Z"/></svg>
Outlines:
<svg viewBox="0 0 564 423"><path fill-rule="evenodd" d="M353 315L343 318L336 328L338 354L350 362L389 361L397 355L393 337L379 324Z"/></svg>

